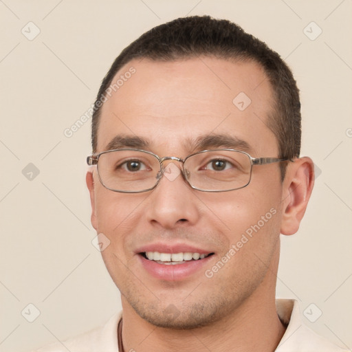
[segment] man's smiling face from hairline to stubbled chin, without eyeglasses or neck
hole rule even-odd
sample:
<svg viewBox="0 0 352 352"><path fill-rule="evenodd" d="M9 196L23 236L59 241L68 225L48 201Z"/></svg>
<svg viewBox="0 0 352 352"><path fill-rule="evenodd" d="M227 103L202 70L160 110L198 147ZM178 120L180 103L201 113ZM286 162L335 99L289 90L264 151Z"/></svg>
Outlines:
<svg viewBox="0 0 352 352"><path fill-rule="evenodd" d="M98 153L142 148L184 159L201 149L235 148L252 157L278 157L266 126L272 90L255 63L144 59L128 63L113 82L131 67L135 73L102 107ZM233 102L241 92L251 100L244 110ZM176 172L179 162L164 166L177 177L164 175L155 189L142 193L104 188L95 167L94 186L87 177L92 223L110 241L102 257L124 309L159 327L190 328L272 293L282 210L279 164L253 166L249 186L230 192L194 190ZM149 260L146 252L161 255ZM181 260L175 265L159 260L178 253L188 254L172 256ZM205 257L193 259L199 254Z"/></svg>

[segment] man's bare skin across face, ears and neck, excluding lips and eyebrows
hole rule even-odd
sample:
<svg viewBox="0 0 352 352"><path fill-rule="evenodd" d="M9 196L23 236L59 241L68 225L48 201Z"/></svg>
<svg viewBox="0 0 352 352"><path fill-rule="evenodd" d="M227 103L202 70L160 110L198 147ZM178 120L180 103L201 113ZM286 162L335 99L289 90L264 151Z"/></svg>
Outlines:
<svg viewBox="0 0 352 352"><path fill-rule="evenodd" d="M146 149L160 157L184 158L194 152L187 138L220 133L248 142L252 157L278 157L276 138L263 123L272 89L256 63L144 59L116 77L131 66L135 74L102 107L97 152L124 134L148 138ZM252 100L244 111L232 103L241 91ZM91 223L111 241L102 258L122 294L124 350L274 351L285 332L275 307L279 234L298 230L313 176L311 159L303 157L289 163L283 182L279 164L269 164L254 166L250 185L230 192L193 190L180 176L163 177L152 191L124 194L104 188L91 168ZM206 277L204 270L271 208L276 214L261 230ZM214 255L200 272L163 281L144 270L135 252L155 241L187 243ZM165 314L170 307L177 314Z"/></svg>

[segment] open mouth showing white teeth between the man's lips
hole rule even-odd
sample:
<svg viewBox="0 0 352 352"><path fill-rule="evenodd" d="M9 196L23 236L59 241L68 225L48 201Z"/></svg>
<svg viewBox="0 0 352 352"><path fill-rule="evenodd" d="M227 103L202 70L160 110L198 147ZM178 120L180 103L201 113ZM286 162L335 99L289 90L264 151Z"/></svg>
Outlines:
<svg viewBox="0 0 352 352"><path fill-rule="evenodd" d="M155 261L155 263L165 265L177 265L185 264L190 261L201 261L202 259L212 256L214 253L199 254L192 252L181 252L181 253L160 253L160 252L142 252L140 253L144 259L148 261Z"/></svg>

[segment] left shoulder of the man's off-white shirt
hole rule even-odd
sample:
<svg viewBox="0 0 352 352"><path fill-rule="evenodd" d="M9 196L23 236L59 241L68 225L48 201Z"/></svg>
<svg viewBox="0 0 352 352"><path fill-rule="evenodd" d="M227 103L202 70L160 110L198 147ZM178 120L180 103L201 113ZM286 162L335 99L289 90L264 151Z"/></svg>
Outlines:
<svg viewBox="0 0 352 352"><path fill-rule="evenodd" d="M118 352L117 329L120 318L120 313L115 314L100 327L32 352Z"/></svg>

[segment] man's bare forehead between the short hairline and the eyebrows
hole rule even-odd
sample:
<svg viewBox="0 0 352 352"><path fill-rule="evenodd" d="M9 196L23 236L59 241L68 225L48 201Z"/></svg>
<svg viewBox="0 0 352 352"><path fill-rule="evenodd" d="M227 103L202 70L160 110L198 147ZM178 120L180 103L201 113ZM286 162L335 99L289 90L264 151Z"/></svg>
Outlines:
<svg viewBox="0 0 352 352"><path fill-rule="evenodd" d="M113 78L102 106L98 151L116 135L148 140L156 153L186 153L200 136L227 135L254 153L277 153L267 127L271 110L272 89L256 63L210 57L131 61Z"/></svg>

